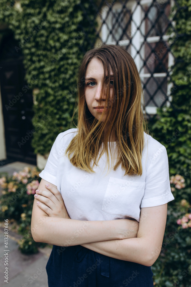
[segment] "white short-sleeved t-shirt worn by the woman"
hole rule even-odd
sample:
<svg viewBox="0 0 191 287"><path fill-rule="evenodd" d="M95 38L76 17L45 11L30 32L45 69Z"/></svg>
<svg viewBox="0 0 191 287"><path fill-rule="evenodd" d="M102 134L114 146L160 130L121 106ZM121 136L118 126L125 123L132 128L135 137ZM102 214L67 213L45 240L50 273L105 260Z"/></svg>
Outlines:
<svg viewBox="0 0 191 287"><path fill-rule="evenodd" d="M94 166L95 173L73 166L63 154L76 133L77 129L69 129L58 134L46 166L39 174L42 179L57 186L71 219L134 218L139 222L141 208L162 205L174 199L166 148L150 135L144 133L142 175L124 176L125 170L121 166L116 171L111 169L106 175L106 154L99 160L99 166Z"/></svg>

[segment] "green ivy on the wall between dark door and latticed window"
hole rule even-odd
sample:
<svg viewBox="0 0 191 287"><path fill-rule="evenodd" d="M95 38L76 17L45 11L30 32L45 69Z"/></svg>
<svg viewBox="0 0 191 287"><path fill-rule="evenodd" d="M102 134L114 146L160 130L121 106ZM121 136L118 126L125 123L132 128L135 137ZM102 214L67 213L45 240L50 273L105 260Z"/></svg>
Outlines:
<svg viewBox="0 0 191 287"><path fill-rule="evenodd" d="M0 23L14 32L19 42L15 49L24 56L25 79L36 79L32 146L44 155L58 133L75 127L70 121L78 67L97 40L96 5L84 0L0 0L0 6Z"/></svg>

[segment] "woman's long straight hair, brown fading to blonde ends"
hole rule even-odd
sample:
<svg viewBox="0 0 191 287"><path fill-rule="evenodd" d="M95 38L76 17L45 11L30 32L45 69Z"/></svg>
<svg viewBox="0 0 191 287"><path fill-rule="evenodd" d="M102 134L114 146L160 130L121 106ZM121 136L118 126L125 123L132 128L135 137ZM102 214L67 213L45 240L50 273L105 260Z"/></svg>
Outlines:
<svg viewBox="0 0 191 287"><path fill-rule="evenodd" d="M102 102L103 90L106 87L105 106L109 106L109 108L106 111L105 121L93 117L85 101L86 68L93 58L101 60L104 68L99 106ZM112 100L108 85L111 81L110 69L113 71ZM92 168L94 165L98 165L99 159L106 152L109 171L108 139L111 131L113 131L118 148L117 162L113 170L116 170L121 164L121 168L125 170L124 176L127 174L141 175L144 128L146 127L141 108L142 94L141 79L136 64L123 47L102 44L101 47L86 52L78 73L78 106L75 111L78 112L78 133L73 137L65 151L65 155L68 153L70 162L82 170L95 172ZM107 132L105 133L104 128L106 126ZM103 150L99 154L102 143ZM111 152L110 143L109 149ZM93 162L92 166L91 162Z"/></svg>

